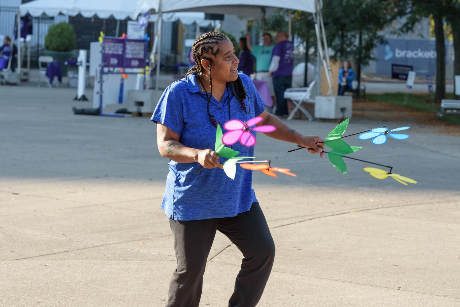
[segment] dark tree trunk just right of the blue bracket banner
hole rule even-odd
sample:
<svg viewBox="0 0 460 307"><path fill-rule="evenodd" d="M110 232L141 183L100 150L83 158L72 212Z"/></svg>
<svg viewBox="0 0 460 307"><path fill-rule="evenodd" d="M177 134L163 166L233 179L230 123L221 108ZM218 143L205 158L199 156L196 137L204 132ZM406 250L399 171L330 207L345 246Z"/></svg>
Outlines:
<svg viewBox="0 0 460 307"><path fill-rule="evenodd" d="M436 35L436 94L435 99L441 102L446 97L446 45L444 42L443 15L433 14L434 33Z"/></svg>

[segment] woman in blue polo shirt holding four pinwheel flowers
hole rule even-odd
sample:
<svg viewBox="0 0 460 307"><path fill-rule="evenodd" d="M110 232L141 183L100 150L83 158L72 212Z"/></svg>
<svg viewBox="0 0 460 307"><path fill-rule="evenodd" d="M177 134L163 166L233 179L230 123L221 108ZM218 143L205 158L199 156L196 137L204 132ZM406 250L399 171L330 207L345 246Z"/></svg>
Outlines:
<svg viewBox="0 0 460 307"><path fill-rule="evenodd" d="M217 125L231 119L262 116L259 125L274 125L270 137L321 153L323 140L304 136L268 114L252 81L238 74L239 60L229 38L217 32L201 35L192 46L196 65L169 85L151 120L158 150L171 159L161 203L174 237L177 269L169 285L167 307L198 307L207 256L217 230L242 251L242 269L229 306L256 306L270 275L275 245L251 188L252 172L238 168L235 180L220 170L212 149ZM244 93L247 91L247 94ZM253 147L237 143L239 156ZM207 170L199 175L202 167ZM220 168L220 169L219 169Z"/></svg>

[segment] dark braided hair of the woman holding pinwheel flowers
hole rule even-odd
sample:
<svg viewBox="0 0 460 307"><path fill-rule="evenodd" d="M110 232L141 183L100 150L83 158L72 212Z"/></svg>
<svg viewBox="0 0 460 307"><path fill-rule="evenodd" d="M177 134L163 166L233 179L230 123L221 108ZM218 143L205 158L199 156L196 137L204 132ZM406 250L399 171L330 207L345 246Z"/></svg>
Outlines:
<svg viewBox="0 0 460 307"><path fill-rule="evenodd" d="M205 71L205 69L203 68L203 65L201 65L201 60L205 59L209 61L209 69L207 72L207 76L209 78L209 96L207 97L207 114L209 116L209 120L211 121L211 123L216 127L219 124L219 122L217 122L216 119L214 119L215 117L214 115L211 115L209 113L209 102L211 101L211 97L213 96L213 78L212 78L211 70L213 67L213 60L221 51L219 46L222 45L222 43L225 40L230 40L230 39L227 35L223 33L207 32L205 34L201 34L192 45L192 55L193 55L193 60L195 61L195 65L189 69L187 74L185 74L185 77L187 77L189 74L196 74L197 77L199 78L199 74ZM201 80L200 80L200 83L201 83ZM240 101L240 103L242 105L242 109L246 112L245 103L242 102L242 100Z"/></svg>

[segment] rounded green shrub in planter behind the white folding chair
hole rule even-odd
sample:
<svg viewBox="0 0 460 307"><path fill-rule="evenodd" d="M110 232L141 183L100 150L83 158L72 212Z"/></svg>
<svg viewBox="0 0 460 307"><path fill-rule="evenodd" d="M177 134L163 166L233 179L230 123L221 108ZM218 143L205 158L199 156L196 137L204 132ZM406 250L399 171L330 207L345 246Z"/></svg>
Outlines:
<svg viewBox="0 0 460 307"><path fill-rule="evenodd" d="M76 48L74 28L69 23L56 23L48 29L45 49L50 51L71 51Z"/></svg>

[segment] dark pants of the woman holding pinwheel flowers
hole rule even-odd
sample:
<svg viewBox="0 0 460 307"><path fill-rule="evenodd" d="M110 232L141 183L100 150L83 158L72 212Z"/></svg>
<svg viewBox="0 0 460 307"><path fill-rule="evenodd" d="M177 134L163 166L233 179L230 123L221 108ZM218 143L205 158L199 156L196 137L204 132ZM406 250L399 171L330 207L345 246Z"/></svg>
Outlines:
<svg viewBox="0 0 460 307"><path fill-rule="evenodd" d="M177 269L169 284L166 307L198 307L216 230L226 235L244 256L229 307L257 305L275 258L275 244L259 203L253 203L251 210L233 217L169 220L169 224L174 236Z"/></svg>

